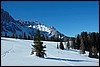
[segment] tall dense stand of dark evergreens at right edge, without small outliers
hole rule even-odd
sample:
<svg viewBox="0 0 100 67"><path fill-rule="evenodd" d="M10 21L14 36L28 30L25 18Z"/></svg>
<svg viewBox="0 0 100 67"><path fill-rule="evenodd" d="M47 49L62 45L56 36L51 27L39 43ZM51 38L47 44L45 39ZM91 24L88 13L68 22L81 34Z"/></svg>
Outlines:
<svg viewBox="0 0 100 67"><path fill-rule="evenodd" d="M73 48L79 49L80 54L89 51L89 57L98 58L99 53L99 33L98 32L81 32L75 40L73 40Z"/></svg>

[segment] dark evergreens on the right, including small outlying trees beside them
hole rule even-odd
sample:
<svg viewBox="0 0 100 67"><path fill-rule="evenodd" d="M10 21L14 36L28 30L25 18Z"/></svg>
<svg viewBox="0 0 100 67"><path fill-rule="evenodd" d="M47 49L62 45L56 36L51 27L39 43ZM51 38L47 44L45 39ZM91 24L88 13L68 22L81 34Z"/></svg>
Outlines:
<svg viewBox="0 0 100 67"><path fill-rule="evenodd" d="M69 45L69 41L71 41ZM80 54L85 54L86 51L89 52L88 57L91 58L99 58L99 33L98 32L81 32L80 34L77 34L76 38L68 39L66 45L66 48L69 50L77 49L80 50ZM60 45L57 43L57 49L64 50L64 45L62 41L60 41Z"/></svg>

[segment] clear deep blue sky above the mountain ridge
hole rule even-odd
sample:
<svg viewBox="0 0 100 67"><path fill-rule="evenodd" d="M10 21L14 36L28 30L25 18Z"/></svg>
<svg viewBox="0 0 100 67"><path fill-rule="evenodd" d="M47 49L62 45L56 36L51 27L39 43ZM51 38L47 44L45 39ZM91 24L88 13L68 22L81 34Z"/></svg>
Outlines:
<svg viewBox="0 0 100 67"><path fill-rule="evenodd" d="M1 1L1 7L14 19L39 21L67 36L99 32L99 1Z"/></svg>

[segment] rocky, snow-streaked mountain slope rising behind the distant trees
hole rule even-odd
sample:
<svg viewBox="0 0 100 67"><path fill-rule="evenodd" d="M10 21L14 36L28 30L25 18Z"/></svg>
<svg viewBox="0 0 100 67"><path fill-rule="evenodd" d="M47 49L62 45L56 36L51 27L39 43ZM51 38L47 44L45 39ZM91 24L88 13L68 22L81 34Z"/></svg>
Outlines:
<svg viewBox="0 0 100 67"><path fill-rule="evenodd" d="M25 33L27 37L31 36L33 38L37 29L39 29L41 34L44 34L45 37L59 37L59 39L63 38L65 40L68 38L52 26L46 26L38 21L15 20L7 11L1 9L1 36L5 36L5 34L12 36L15 34L19 37L19 35L24 35Z"/></svg>

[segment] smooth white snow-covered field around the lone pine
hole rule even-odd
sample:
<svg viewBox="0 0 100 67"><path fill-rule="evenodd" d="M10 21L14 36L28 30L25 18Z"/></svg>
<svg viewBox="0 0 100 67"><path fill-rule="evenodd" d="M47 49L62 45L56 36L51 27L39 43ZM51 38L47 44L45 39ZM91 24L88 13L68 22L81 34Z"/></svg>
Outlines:
<svg viewBox="0 0 100 67"><path fill-rule="evenodd" d="M1 66L99 66L99 59L89 58L88 52L60 50L57 42L43 41L47 57L30 55L33 40L20 40L1 37Z"/></svg>

